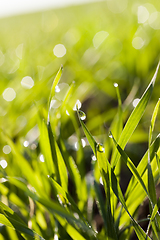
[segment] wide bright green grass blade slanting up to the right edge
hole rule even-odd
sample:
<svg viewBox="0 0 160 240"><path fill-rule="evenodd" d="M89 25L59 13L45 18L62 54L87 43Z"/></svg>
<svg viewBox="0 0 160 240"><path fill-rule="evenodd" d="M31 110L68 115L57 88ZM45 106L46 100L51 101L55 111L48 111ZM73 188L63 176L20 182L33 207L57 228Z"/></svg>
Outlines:
<svg viewBox="0 0 160 240"><path fill-rule="evenodd" d="M135 107L133 112L131 113L131 115L122 131L122 134L118 141L118 144L121 146L122 149L124 149L125 145L127 144L128 140L130 139L132 133L134 132L136 126L138 125L138 123L139 123L140 119L142 118L143 113L147 107L147 104L149 102L149 99L151 97L151 94L152 94L152 91L154 88L155 80L156 80L158 70L159 70L159 65L160 65L160 63L158 63L156 72L155 72L151 82L149 83L144 94L142 95L139 103L137 104L137 106ZM120 154L118 153L118 151L116 151L116 153L113 155L112 160L111 160L113 168L115 168L119 158L120 158Z"/></svg>

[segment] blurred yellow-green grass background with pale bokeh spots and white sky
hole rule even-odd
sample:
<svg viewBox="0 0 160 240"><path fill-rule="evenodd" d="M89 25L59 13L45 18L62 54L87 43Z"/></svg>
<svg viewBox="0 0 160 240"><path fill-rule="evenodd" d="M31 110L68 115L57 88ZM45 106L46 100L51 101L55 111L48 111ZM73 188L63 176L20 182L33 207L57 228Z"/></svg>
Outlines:
<svg viewBox="0 0 160 240"><path fill-rule="evenodd" d="M75 81L70 105L77 99L82 102L89 130L103 141L117 112L114 83L119 85L125 123L159 61L159 0L32 1L31 5L1 1L0 17L0 126L24 146L38 137L37 106L47 106L61 64L64 71L57 90L61 94L55 95L52 106L55 116L58 119L63 96ZM132 148L127 147L137 162L146 149L159 90L157 79L130 140ZM66 116L62 119L63 137L68 139L73 127ZM155 135L159 126L158 118ZM1 160L10 153L5 146L1 139Z"/></svg>

